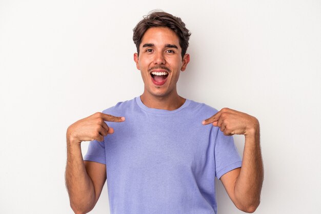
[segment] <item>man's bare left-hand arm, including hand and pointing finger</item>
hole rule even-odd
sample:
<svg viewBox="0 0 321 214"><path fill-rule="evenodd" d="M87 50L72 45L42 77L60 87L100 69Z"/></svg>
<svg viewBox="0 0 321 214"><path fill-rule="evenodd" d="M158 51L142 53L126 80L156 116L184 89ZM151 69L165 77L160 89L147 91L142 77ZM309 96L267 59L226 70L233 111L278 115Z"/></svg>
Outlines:
<svg viewBox="0 0 321 214"><path fill-rule="evenodd" d="M67 129L66 186L70 206L76 214L93 209L106 181L106 165L84 162L81 151L81 142L103 141L107 134L114 132L105 121L123 122L125 118L97 112Z"/></svg>

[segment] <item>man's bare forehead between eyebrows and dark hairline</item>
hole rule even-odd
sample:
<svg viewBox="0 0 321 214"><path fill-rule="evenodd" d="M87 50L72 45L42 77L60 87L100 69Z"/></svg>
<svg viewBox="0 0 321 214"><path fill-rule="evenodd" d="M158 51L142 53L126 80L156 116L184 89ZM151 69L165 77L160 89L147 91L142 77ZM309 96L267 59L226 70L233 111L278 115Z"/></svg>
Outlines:
<svg viewBox="0 0 321 214"><path fill-rule="evenodd" d="M180 47L178 36L173 30L167 27L149 28L142 38L141 46L146 43L155 44L155 46L171 44Z"/></svg>

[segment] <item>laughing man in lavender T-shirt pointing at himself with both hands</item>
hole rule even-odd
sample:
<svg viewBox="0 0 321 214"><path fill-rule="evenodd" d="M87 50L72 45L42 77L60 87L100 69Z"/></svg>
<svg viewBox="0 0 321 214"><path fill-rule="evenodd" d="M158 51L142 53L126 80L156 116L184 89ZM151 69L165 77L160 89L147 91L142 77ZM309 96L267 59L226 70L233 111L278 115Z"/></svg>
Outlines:
<svg viewBox="0 0 321 214"><path fill-rule="evenodd" d="M68 128L66 184L75 213L95 206L106 179L111 213L216 213L215 176L237 208L257 208L259 123L178 95L179 73L190 61L189 36L178 17L146 16L133 36L144 93ZM242 161L233 134L245 135ZM92 141L84 160L83 141Z"/></svg>

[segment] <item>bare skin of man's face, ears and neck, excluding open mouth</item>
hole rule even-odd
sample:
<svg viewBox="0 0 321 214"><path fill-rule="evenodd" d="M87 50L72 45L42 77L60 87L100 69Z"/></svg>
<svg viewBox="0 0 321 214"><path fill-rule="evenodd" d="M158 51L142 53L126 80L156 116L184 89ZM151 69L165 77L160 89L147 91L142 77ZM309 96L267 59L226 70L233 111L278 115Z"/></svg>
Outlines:
<svg viewBox="0 0 321 214"><path fill-rule="evenodd" d="M152 44L152 46L144 47L146 44ZM176 46L177 49L168 47L169 45ZM134 53L134 61L144 81L144 93L141 95L141 100L146 106L174 110L184 104L186 99L177 94L176 83L180 71L185 71L190 56L185 54L182 59L181 53L179 39L169 28L150 28L145 32L139 46L139 56ZM159 67L166 67L168 70L157 69ZM168 71L166 83L162 86L153 84L150 69Z"/></svg>

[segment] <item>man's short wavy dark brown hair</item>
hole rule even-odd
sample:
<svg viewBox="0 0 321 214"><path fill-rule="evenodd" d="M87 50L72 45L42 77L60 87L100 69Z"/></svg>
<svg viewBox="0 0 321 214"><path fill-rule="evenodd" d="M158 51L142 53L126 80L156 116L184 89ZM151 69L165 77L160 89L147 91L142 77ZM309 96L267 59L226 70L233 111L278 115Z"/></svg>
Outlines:
<svg viewBox="0 0 321 214"><path fill-rule="evenodd" d="M143 20L133 29L133 41L136 45L138 55L142 38L145 32L152 27L167 27L173 30L179 38L179 45L182 48L182 58L184 57L189 45L188 41L191 32L185 27L185 23L179 17L159 10L151 11L148 15L143 16Z"/></svg>

